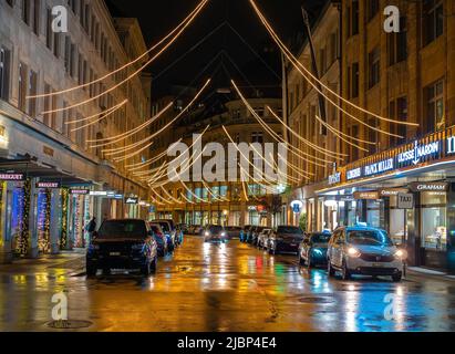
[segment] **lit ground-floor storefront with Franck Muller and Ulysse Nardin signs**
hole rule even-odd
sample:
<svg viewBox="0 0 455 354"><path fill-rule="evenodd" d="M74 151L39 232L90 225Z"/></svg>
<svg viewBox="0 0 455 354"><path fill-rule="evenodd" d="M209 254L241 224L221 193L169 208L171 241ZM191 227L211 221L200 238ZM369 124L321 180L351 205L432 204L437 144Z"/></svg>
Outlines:
<svg viewBox="0 0 455 354"><path fill-rule="evenodd" d="M383 228L407 248L410 264L455 272L454 128L344 166L337 175L317 192L333 200L339 225Z"/></svg>

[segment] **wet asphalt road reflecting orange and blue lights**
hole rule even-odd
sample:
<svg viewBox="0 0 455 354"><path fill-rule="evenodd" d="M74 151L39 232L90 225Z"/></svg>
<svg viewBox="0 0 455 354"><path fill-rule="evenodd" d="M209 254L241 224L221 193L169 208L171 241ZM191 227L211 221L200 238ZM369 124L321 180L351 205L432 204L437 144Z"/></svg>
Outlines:
<svg viewBox="0 0 455 354"><path fill-rule="evenodd" d="M79 331L454 331L455 282L328 279L293 256L186 237L155 275L86 279L82 257L0 267L0 331L55 331L64 292ZM392 302L390 302L392 300ZM393 304L393 305L392 305Z"/></svg>

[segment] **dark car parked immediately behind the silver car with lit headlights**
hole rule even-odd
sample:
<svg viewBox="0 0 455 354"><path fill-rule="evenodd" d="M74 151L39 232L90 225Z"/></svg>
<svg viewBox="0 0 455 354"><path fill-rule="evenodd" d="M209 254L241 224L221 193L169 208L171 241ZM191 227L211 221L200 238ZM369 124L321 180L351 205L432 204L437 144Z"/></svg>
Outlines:
<svg viewBox="0 0 455 354"><path fill-rule="evenodd" d="M308 267L327 266L327 249L331 237L330 231L306 235L299 247L299 263Z"/></svg>

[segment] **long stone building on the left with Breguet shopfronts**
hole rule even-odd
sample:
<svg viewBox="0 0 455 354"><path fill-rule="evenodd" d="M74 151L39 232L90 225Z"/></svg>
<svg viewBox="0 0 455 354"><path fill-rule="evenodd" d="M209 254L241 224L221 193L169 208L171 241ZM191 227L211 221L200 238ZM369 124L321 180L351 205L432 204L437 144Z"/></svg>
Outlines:
<svg viewBox="0 0 455 354"><path fill-rule="evenodd" d="M66 9L68 32L52 30L56 6ZM3 0L0 23L1 261L84 247L90 241L84 226L92 216L100 225L105 218L146 214L124 197L147 200L147 189L127 165L148 152L114 162L131 152L107 156L91 145L148 118L149 76L106 94L134 67L87 84L145 52L137 21L113 20L99 0ZM79 85L84 86L28 98ZM125 100L112 114L105 112Z"/></svg>

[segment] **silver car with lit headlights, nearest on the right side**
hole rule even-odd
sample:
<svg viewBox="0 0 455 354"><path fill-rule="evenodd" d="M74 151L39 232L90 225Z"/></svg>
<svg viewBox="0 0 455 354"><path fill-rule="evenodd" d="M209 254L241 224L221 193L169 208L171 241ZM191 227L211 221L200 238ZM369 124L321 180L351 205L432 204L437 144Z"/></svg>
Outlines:
<svg viewBox="0 0 455 354"><path fill-rule="evenodd" d="M390 275L401 281L406 252L397 249L382 229L354 226L340 227L330 239L327 252L330 277L340 271L342 279L352 274Z"/></svg>

